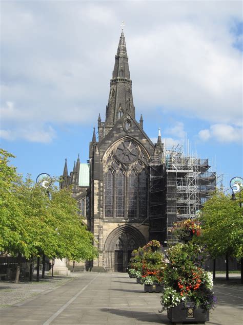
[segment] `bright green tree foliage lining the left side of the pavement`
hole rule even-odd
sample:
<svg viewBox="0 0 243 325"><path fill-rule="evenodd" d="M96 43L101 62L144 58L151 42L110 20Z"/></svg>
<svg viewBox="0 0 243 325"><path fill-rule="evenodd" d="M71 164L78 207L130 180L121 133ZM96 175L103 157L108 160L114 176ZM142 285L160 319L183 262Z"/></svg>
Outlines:
<svg viewBox="0 0 243 325"><path fill-rule="evenodd" d="M48 195L45 188L30 177L23 180L9 166L12 157L1 149L0 250L26 258L42 254L76 261L96 258L93 234L78 214L71 189L52 185Z"/></svg>

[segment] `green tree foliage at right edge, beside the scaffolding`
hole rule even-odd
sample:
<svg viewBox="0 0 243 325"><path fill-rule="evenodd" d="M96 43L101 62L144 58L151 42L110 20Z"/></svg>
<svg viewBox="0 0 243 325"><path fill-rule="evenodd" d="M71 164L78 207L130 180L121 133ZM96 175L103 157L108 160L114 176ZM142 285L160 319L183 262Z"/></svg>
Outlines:
<svg viewBox="0 0 243 325"><path fill-rule="evenodd" d="M231 195L215 192L202 208L200 221L200 240L207 244L213 258L243 256L243 219L238 200L233 201Z"/></svg>

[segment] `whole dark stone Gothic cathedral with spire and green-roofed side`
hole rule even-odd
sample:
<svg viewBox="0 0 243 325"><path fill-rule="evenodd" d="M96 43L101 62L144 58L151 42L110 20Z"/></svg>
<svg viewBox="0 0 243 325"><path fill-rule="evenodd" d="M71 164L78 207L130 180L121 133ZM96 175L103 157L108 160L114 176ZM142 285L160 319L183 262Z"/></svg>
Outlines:
<svg viewBox="0 0 243 325"><path fill-rule="evenodd" d="M73 186L80 211L98 243L100 254L92 262L94 269L125 272L133 249L151 239L166 242L167 225L176 221L178 209L173 195L170 205L166 204L168 186L173 192L176 175L165 172L163 157L160 133L154 144L143 130L143 117L139 122L135 117L122 31L106 118L102 121L98 116L98 139L94 130L89 161L81 164L78 157L70 174L66 161L63 173L62 187Z"/></svg>

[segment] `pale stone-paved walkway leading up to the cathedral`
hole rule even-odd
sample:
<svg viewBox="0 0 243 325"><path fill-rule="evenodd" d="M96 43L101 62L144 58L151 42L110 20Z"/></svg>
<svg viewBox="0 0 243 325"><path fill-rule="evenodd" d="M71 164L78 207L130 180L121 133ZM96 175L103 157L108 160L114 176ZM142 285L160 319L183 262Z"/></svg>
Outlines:
<svg viewBox="0 0 243 325"><path fill-rule="evenodd" d="M71 280L59 281L52 284L67 282L1 309L0 323L170 324L165 312L158 313L160 294L145 293L143 286L127 274L86 272ZM218 279L215 282L218 307L210 313L210 321L206 324L241 325L243 295L239 281L227 283ZM3 283L8 286L8 282Z"/></svg>

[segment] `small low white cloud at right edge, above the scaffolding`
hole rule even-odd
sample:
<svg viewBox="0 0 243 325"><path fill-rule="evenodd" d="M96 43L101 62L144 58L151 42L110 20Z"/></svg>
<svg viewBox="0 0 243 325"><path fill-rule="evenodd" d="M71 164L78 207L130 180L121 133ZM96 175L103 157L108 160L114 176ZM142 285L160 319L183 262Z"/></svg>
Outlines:
<svg viewBox="0 0 243 325"><path fill-rule="evenodd" d="M228 124L213 124L209 130L201 130L198 133L198 136L204 141L212 139L222 143L242 143L243 130L242 128L235 126L233 127L232 125Z"/></svg>

